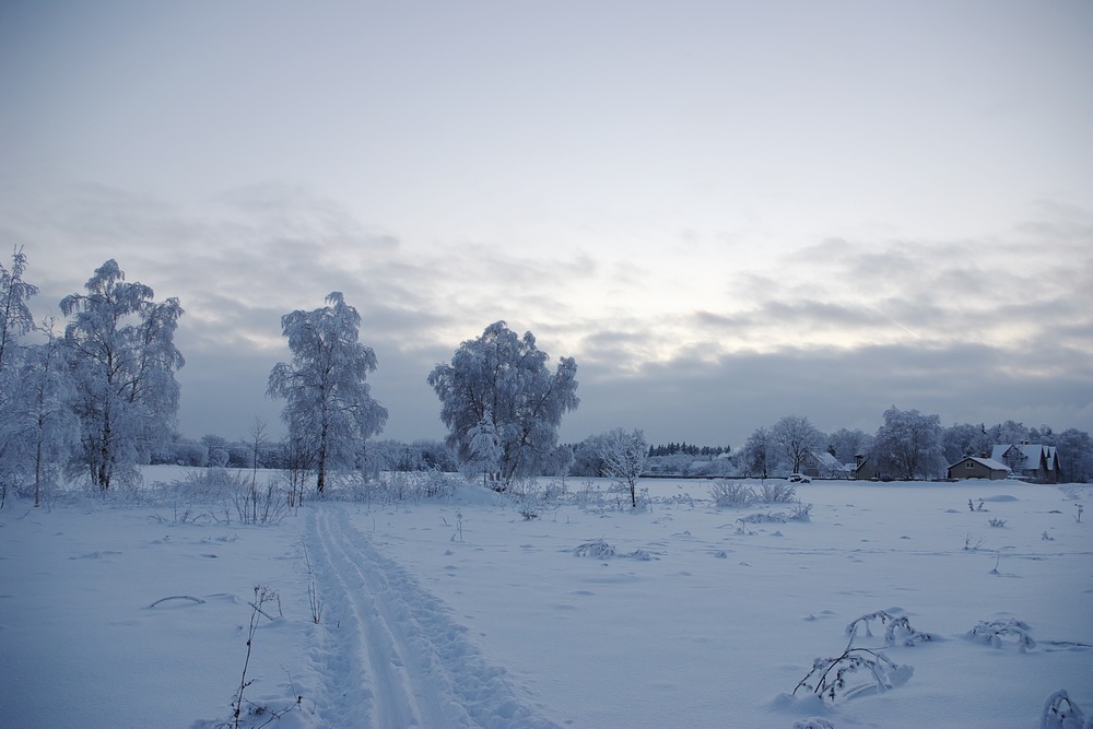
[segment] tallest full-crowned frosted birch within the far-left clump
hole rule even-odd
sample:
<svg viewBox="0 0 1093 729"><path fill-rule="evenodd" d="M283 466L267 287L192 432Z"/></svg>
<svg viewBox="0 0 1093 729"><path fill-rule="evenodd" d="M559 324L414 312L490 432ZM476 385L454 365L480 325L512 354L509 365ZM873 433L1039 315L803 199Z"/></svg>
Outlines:
<svg viewBox="0 0 1093 729"><path fill-rule="evenodd" d="M80 420L74 462L106 491L117 477L134 475L133 467L171 437L175 372L185 364L174 342L183 307L177 298L153 301L152 289L127 282L114 259L95 269L85 289L61 299L61 311L72 317L64 348Z"/></svg>

